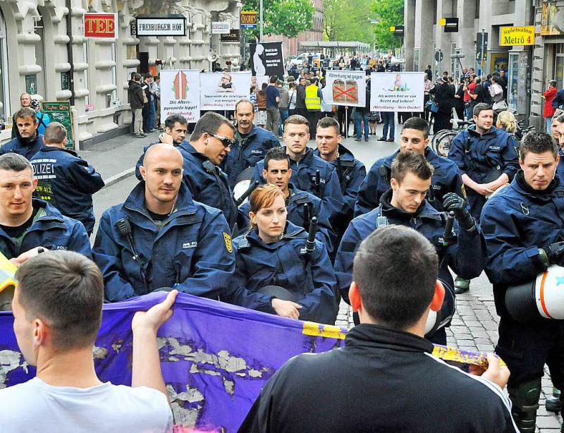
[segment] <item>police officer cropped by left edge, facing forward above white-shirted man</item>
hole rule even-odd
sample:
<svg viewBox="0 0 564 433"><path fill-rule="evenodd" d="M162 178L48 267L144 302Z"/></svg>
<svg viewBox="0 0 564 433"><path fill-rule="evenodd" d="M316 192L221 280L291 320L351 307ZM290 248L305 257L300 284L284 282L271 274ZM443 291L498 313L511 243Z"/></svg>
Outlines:
<svg viewBox="0 0 564 433"><path fill-rule="evenodd" d="M0 156L0 252L16 264L39 248L92 257L84 226L32 198L36 185L30 161L16 153Z"/></svg>

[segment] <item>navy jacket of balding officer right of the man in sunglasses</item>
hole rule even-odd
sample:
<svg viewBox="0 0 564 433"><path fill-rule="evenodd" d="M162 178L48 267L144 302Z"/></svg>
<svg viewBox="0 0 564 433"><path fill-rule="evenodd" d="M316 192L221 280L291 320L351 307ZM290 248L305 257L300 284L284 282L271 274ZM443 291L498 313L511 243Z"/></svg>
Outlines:
<svg viewBox="0 0 564 433"><path fill-rule="evenodd" d="M264 159L269 149L279 146L280 142L276 135L259 126L253 126L245 138L242 138L237 130L235 145L231 146L231 152L227 154L224 164L224 171L227 173L231 188L235 186L239 173L247 167L254 167L258 161Z"/></svg>

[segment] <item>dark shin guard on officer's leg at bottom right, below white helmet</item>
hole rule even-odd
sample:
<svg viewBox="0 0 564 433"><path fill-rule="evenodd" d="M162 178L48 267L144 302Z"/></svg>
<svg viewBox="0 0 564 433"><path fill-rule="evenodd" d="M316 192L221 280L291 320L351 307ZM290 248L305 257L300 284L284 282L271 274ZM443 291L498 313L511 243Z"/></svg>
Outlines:
<svg viewBox="0 0 564 433"><path fill-rule="evenodd" d="M517 386L508 386L508 392L511 403L513 403L511 415L520 432L534 433L541 397L541 378Z"/></svg>

